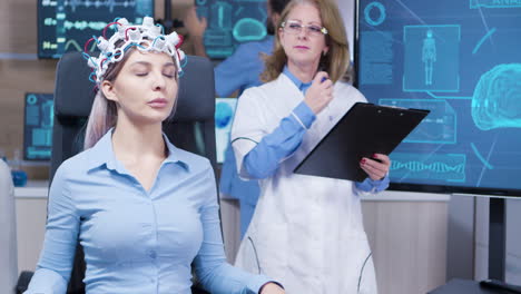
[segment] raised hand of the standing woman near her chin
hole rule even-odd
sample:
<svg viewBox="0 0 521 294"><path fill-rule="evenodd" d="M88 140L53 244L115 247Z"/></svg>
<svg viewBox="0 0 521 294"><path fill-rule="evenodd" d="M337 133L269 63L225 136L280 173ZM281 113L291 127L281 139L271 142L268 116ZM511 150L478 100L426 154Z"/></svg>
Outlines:
<svg viewBox="0 0 521 294"><path fill-rule="evenodd" d="M333 82L328 79L327 72L318 71L306 91L304 101L315 115L318 115L331 100L333 100Z"/></svg>

